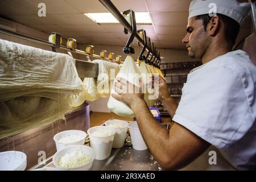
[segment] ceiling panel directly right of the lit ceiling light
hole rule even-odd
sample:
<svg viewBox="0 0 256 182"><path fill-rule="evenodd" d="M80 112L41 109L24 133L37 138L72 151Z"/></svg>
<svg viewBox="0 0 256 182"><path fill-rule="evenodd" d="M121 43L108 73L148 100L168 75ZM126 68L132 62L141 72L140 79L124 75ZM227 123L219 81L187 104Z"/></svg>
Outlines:
<svg viewBox="0 0 256 182"><path fill-rule="evenodd" d="M187 26L188 13L150 13L155 26Z"/></svg>

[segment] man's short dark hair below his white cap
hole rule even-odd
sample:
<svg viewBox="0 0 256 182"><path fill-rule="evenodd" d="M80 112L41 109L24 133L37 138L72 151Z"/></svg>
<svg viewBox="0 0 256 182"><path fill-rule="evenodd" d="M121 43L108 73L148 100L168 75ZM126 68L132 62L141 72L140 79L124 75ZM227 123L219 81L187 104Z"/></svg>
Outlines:
<svg viewBox="0 0 256 182"><path fill-rule="evenodd" d="M234 43L236 42L236 39L237 39L238 32L240 30L240 24L238 22L236 22L236 20L234 20L232 18L229 18L226 15L217 14L217 16L225 24L224 26L225 26L225 38L226 38L226 40L228 42L232 43L232 45L234 45ZM203 20L204 29L206 31L207 24L212 19L212 16L209 16L209 14L204 14L204 15L198 15L195 18Z"/></svg>

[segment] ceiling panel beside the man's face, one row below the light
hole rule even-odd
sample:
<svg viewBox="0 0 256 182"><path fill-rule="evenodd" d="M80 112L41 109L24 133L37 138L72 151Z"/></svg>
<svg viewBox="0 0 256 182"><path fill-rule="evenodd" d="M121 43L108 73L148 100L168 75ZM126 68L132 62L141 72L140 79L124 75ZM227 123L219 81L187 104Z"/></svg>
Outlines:
<svg viewBox="0 0 256 182"><path fill-rule="evenodd" d="M155 26L156 34L161 35L183 35L187 34L186 27Z"/></svg>

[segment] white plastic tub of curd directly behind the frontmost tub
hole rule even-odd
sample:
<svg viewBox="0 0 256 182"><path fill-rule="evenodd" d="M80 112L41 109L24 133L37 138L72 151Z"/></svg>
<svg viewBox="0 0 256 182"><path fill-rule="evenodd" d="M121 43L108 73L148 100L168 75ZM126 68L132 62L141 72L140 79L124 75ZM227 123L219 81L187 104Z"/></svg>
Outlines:
<svg viewBox="0 0 256 182"><path fill-rule="evenodd" d="M68 136L81 136L81 139L79 140L73 140L72 142L68 142L68 143L61 143L59 142L59 140L63 137L68 137ZM55 141L56 144L56 148L57 151L67 147L67 146L72 146L72 145L82 145L85 143L85 138L86 138L86 133L84 131L81 130L66 130L66 131L62 131L60 133L57 133L54 137L53 140Z"/></svg>

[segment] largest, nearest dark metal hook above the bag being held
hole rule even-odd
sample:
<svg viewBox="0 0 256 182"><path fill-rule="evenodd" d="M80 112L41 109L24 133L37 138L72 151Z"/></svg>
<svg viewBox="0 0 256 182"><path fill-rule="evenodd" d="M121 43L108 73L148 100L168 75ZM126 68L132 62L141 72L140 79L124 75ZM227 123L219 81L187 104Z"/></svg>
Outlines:
<svg viewBox="0 0 256 182"><path fill-rule="evenodd" d="M123 52L126 54L134 54L134 48L130 47L131 42L133 42L133 39L135 38L135 35L137 34L137 28L136 28L136 20L135 20L135 13L133 10L126 10L123 11L123 15L131 15L131 35L123 48Z"/></svg>

